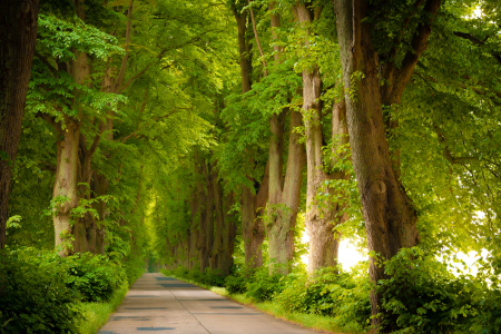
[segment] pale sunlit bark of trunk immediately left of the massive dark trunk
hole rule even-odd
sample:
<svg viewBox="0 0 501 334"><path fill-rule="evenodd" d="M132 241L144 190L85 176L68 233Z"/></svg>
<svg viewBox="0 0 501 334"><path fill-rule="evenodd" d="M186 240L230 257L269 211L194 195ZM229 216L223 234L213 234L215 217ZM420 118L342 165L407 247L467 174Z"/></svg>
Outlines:
<svg viewBox="0 0 501 334"><path fill-rule="evenodd" d="M311 8L312 3L296 4L295 11L298 22L302 24L318 19L321 8ZM308 28L306 28L308 29ZM310 31L306 33L304 45L310 47ZM335 266L337 264L338 235L333 228L346 219L346 215L340 213L338 204L315 200L318 188L332 179L345 179L344 173L330 174L324 167L322 147L324 135L322 131L322 79L318 67L303 70L303 119L306 132L306 160L307 160L307 187L306 187L306 219L305 227L310 236L308 274L313 274L321 267ZM334 120L345 117L345 104L335 105L333 108L333 140L345 143L347 128L340 127ZM344 121L345 124L345 121ZM338 143L338 145L344 144Z"/></svg>

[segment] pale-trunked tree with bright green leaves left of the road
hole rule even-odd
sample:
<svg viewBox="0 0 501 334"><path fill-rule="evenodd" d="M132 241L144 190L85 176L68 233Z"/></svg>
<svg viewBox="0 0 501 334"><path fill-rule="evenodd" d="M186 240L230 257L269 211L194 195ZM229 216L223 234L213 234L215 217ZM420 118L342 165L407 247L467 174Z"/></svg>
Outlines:
<svg viewBox="0 0 501 334"><path fill-rule="evenodd" d="M115 46L115 38L84 22L81 2L76 2L76 10L75 22L52 14L40 17L42 38L30 91L31 111L47 120L58 135L52 208L60 255L96 252L96 240L100 245L104 242L96 237L88 205L91 160L107 129L107 117L111 117L119 101L125 101L114 92L94 88L89 60L89 55L104 59L122 49ZM82 210L77 213L79 206Z"/></svg>

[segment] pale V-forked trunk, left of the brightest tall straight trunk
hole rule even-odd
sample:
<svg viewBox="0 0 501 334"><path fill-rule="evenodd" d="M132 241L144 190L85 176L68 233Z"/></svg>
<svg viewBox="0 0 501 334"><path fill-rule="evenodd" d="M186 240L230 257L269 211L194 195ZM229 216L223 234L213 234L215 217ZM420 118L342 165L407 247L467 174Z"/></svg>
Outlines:
<svg viewBox="0 0 501 334"><path fill-rule="evenodd" d="M283 111L285 112L285 111ZM298 143L299 135L293 129L302 125L302 115L291 111L291 132L285 179L282 177L283 127L278 117L271 120L272 139L269 144L269 197L266 214L266 233L268 236L268 255L272 261L271 272L287 274L288 264L294 255L294 228L299 208L303 169L306 163L304 145ZM284 185L282 186L282 181Z"/></svg>

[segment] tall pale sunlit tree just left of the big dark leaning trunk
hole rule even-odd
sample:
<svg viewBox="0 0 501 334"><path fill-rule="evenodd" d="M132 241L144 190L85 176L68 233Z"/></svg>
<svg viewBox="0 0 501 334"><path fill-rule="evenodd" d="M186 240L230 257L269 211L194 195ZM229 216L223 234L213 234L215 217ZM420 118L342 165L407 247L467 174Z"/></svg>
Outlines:
<svg viewBox="0 0 501 334"><path fill-rule="evenodd" d="M324 75L324 79L322 79L318 62L322 61L322 58L325 58L322 57L322 51L320 50L328 47L328 42L322 40L322 38L326 39L325 35L318 37L314 30L314 24L318 24L324 8L322 6L315 7L313 2L305 2L296 3L294 10L296 11L298 23L304 30L302 43L305 50L299 57L303 58L303 67L305 67L302 72L302 114L305 125L307 160L305 227L310 236L308 273L313 274L321 267L335 266L337 264L340 234L334 230L334 227L344 223L347 218L347 215L343 213L344 205L341 199L343 197L342 191L330 186L331 181L347 180L350 178L345 170L333 167L337 160L343 159L343 154L340 155L340 153L341 149L346 146L348 139L346 107L344 98L342 98L340 102L334 102L332 108L332 136L328 139L328 141L332 141L332 154L328 156L333 157L331 158L332 161L326 164L324 163L325 154L323 149L327 148L324 147L324 143L327 140L324 136L322 126L322 121L325 121L326 115L323 110L324 101L322 95L327 90L324 87L324 81L326 81L328 77ZM318 47L316 47L317 43L320 45ZM338 59L333 59L332 55L328 56L332 62L338 62ZM341 82L335 81L334 86L337 88L337 91L340 90L338 87L342 87ZM326 196L318 197L318 193L321 193L322 189L325 190L322 193L338 194L337 196L332 196L333 198Z"/></svg>

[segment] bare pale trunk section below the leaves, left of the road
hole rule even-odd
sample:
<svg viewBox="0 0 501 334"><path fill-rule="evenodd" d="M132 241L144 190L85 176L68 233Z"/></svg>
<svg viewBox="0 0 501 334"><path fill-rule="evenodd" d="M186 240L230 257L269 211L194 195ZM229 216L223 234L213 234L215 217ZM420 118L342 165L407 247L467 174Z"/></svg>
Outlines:
<svg viewBox="0 0 501 334"><path fill-rule="evenodd" d="M77 181L80 122L65 117L65 124L63 138L57 143L57 169L52 193L52 200L56 202L53 207L56 249L60 256L73 253L71 210L78 206L79 198ZM78 230L78 233L75 236L76 239L81 237L81 232Z"/></svg>

